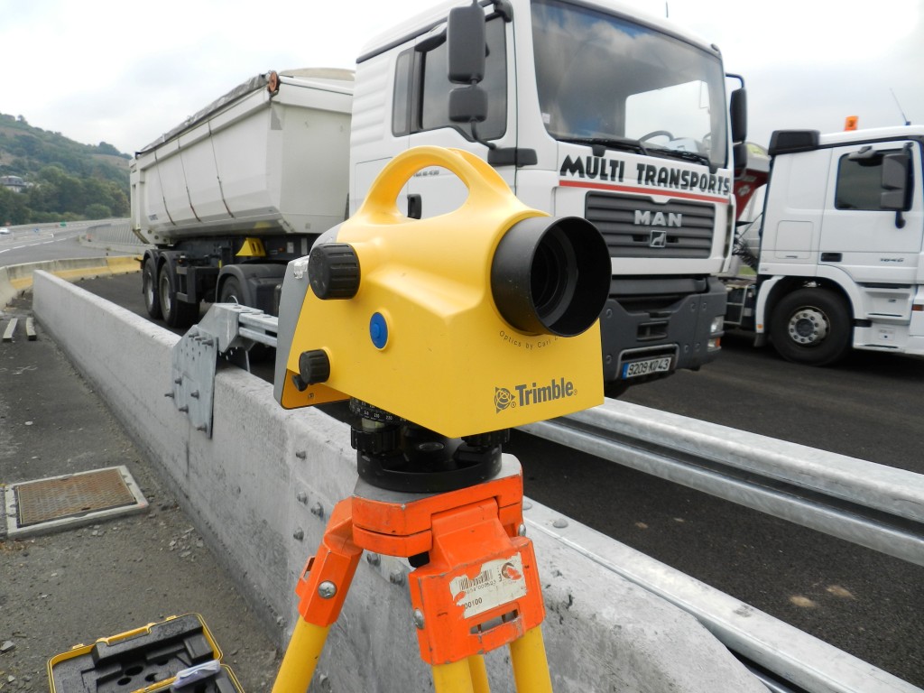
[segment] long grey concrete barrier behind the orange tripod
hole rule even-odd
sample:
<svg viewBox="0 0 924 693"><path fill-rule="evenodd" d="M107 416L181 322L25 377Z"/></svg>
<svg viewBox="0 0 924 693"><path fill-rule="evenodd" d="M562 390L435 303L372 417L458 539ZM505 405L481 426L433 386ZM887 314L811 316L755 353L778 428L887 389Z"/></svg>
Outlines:
<svg viewBox="0 0 924 693"><path fill-rule="evenodd" d="M171 349L178 337L52 274L35 274L33 308L164 472L184 510L280 645L298 617L295 584L334 504L356 482L345 424L319 410L286 411L244 371L218 372L213 437L176 411ZM543 632L558 693L766 693L692 616L543 531L555 514L529 502L547 615ZM569 523L577 524L568 519ZM614 542L615 543L615 542ZM425 691L407 562L361 561L315 674L329 688ZM486 658L492 690L514 690L505 650Z"/></svg>

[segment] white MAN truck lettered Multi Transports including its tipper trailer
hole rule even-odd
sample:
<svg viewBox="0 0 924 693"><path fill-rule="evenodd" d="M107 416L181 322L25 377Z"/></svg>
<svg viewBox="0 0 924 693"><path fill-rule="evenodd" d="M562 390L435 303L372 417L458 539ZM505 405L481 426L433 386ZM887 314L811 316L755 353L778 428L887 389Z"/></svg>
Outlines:
<svg viewBox="0 0 924 693"><path fill-rule="evenodd" d="M602 232L609 393L717 356L746 135L744 88L726 94L718 49L616 0L482 0L474 22L461 6L368 43L355 73L250 79L137 152L152 316L187 325L201 301L234 300L274 314L286 262L426 144L474 152L528 206ZM430 217L466 192L432 167L399 204Z"/></svg>

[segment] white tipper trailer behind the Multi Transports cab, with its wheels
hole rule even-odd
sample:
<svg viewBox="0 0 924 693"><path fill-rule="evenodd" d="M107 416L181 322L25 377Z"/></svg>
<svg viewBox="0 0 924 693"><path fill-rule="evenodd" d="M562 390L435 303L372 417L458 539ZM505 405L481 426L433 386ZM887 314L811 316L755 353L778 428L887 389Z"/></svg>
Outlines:
<svg viewBox="0 0 924 693"><path fill-rule="evenodd" d="M136 153L153 317L186 326L201 300L274 312L286 262L346 216L352 94L348 70L259 75Z"/></svg>

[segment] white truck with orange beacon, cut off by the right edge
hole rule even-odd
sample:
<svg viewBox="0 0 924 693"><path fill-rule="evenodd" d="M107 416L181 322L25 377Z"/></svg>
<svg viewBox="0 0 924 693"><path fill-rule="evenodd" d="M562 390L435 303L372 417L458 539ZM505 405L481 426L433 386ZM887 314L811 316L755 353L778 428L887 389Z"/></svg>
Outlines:
<svg viewBox="0 0 924 693"><path fill-rule="evenodd" d="M740 179L766 188L736 242L754 274L725 280L726 326L815 366L851 347L924 355L922 150L919 126L774 132L770 165Z"/></svg>

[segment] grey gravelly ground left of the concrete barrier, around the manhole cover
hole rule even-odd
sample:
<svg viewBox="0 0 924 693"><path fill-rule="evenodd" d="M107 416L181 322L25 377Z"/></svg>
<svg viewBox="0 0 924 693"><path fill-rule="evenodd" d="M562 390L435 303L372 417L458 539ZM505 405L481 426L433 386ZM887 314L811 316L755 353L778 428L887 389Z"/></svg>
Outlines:
<svg viewBox="0 0 924 693"><path fill-rule="evenodd" d="M30 295L2 315L30 313ZM0 344L0 490L125 465L148 501L140 514L12 541L0 518L0 691L48 690L47 662L89 644L198 613L242 687L270 690L273 632L176 504L112 413L36 326ZM2 504L0 504L2 505Z"/></svg>

